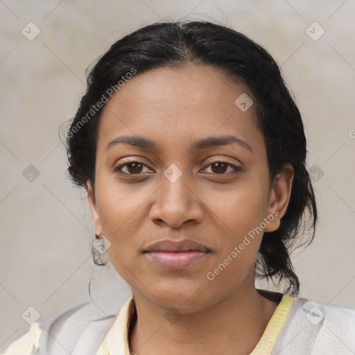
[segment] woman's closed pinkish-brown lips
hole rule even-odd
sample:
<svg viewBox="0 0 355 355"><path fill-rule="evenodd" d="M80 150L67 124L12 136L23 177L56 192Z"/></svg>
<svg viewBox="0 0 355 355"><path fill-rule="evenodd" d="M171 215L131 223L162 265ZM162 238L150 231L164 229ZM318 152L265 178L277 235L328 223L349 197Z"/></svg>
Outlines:
<svg viewBox="0 0 355 355"><path fill-rule="evenodd" d="M164 269L184 270L205 259L211 250L189 239L180 242L164 240L151 245L144 254Z"/></svg>

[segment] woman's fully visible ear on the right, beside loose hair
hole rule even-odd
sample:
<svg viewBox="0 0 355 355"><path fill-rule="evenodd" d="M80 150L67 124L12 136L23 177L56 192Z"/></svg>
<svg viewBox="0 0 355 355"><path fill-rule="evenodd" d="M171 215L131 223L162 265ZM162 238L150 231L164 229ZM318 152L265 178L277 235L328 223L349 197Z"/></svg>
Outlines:
<svg viewBox="0 0 355 355"><path fill-rule="evenodd" d="M286 214L290 202L294 175L295 171L291 164L286 164L277 174L268 202L268 215L273 215L275 218L266 225L265 232L274 232L279 228L279 221Z"/></svg>

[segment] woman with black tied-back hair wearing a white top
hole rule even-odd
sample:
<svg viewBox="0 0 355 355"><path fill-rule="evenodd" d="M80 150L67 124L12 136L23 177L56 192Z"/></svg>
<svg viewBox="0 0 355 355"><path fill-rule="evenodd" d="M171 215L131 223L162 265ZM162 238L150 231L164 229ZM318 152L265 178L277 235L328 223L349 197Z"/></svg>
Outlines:
<svg viewBox="0 0 355 355"><path fill-rule="evenodd" d="M191 21L117 41L89 73L67 153L94 256L103 243L132 297L116 316L85 304L35 323L5 354L355 352L355 311L297 297L289 254L317 221L304 127L248 37Z"/></svg>

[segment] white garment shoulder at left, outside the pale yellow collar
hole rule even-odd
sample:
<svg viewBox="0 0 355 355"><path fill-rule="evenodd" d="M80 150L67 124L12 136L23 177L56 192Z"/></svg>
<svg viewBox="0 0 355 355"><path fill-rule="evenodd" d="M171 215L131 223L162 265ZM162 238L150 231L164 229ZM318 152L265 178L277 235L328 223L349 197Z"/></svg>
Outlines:
<svg viewBox="0 0 355 355"><path fill-rule="evenodd" d="M94 355L115 318L116 314L105 314L92 302L79 304L32 324L3 355L67 355L78 347L81 354Z"/></svg>

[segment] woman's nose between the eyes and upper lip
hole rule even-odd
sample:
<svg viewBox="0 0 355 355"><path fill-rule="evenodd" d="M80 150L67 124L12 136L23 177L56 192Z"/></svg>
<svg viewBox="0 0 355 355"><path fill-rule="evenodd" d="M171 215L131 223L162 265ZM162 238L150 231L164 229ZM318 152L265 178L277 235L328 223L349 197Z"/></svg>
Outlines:
<svg viewBox="0 0 355 355"><path fill-rule="evenodd" d="M203 204L184 174L175 182L162 175L162 184L154 194L150 219L154 223L178 228L187 221L200 223L203 218ZM191 222L192 223L192 222Z"/></svg>

